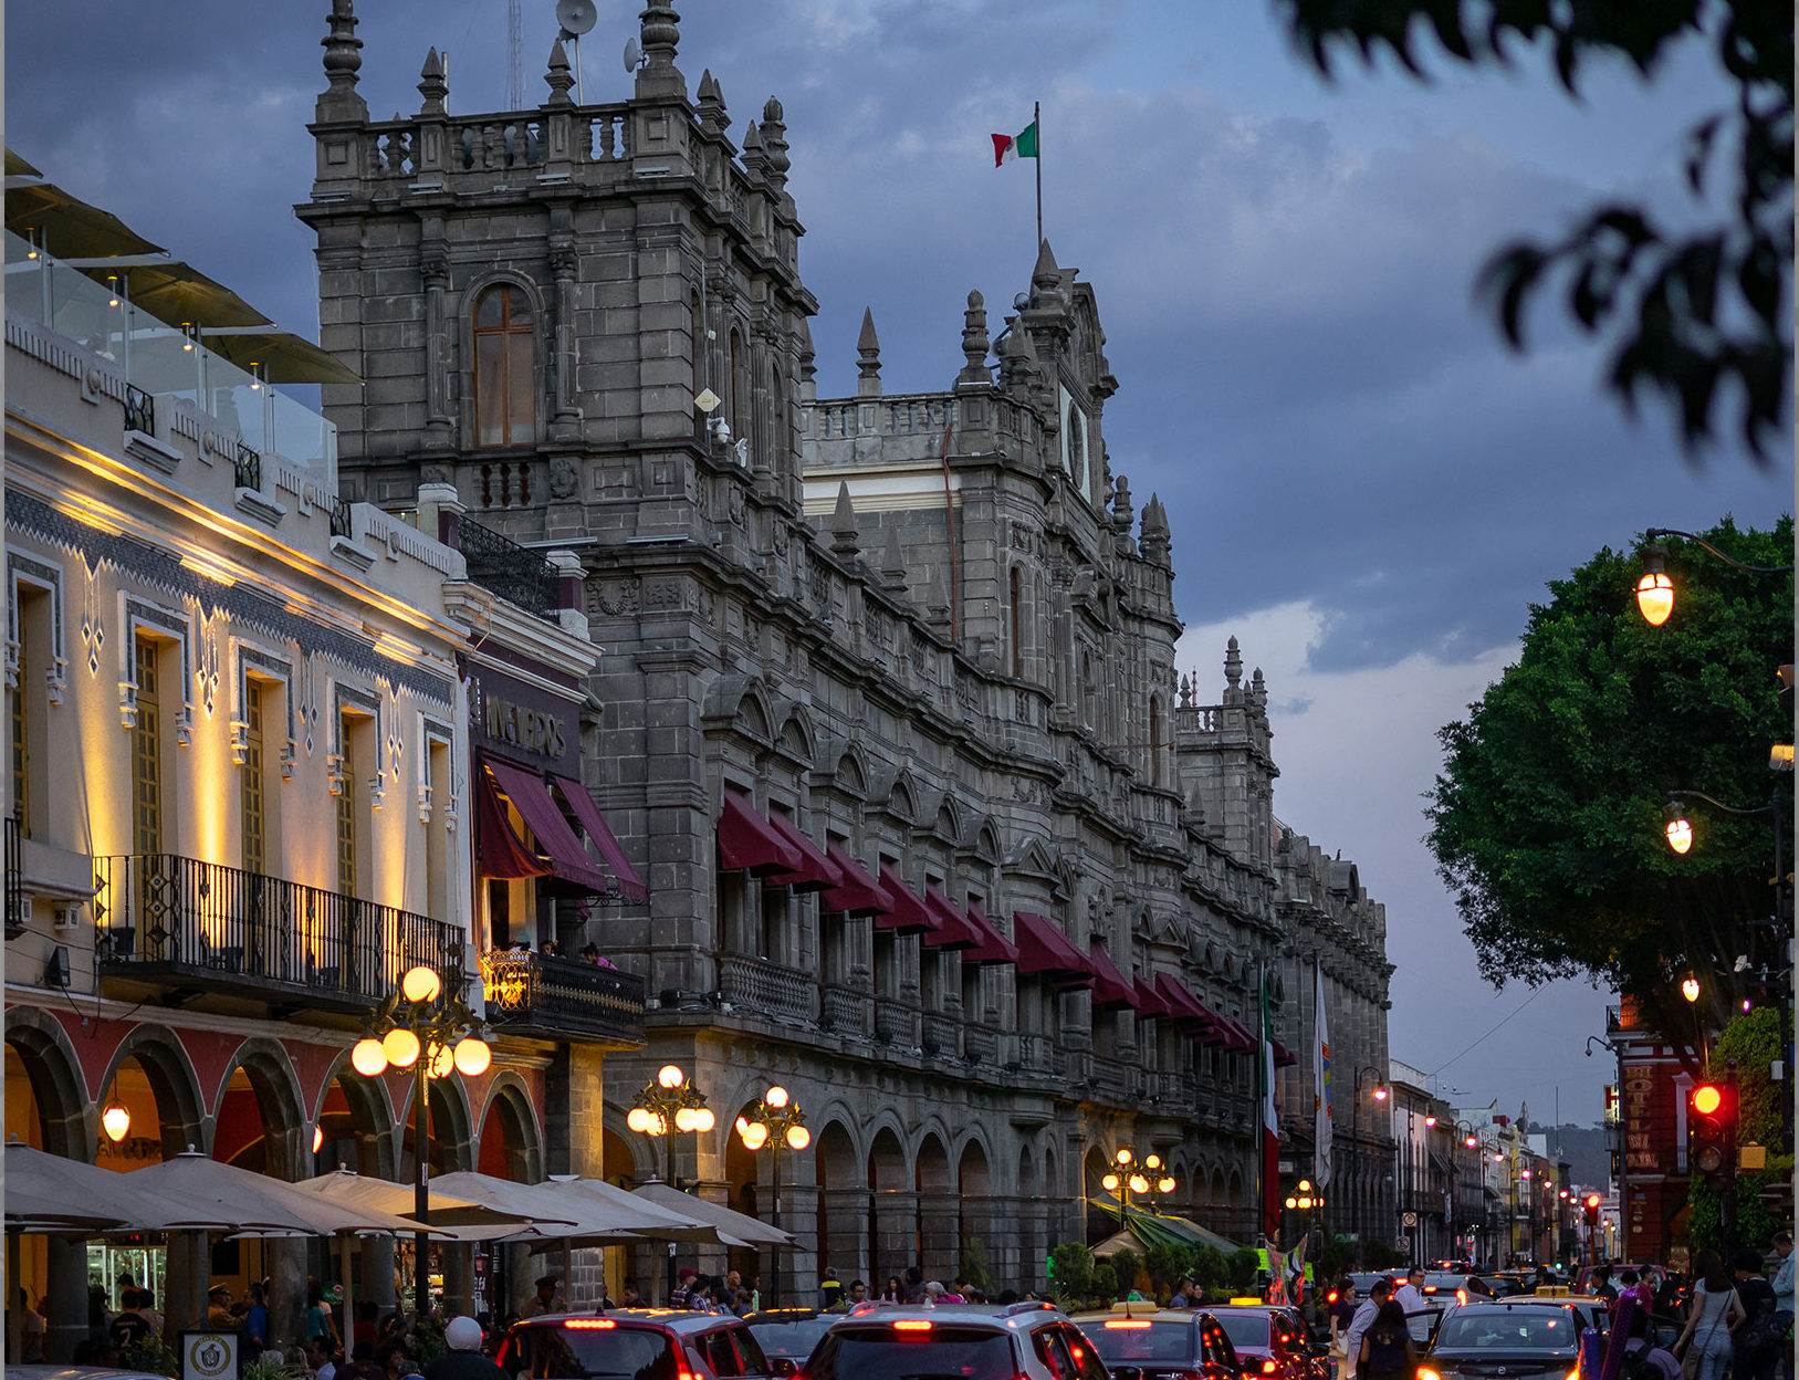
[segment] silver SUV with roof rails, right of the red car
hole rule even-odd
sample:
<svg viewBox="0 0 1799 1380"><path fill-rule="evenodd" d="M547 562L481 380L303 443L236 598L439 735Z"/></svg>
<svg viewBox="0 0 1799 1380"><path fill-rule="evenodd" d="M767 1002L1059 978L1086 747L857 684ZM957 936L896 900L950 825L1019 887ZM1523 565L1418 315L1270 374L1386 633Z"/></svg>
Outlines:
<svg viewBox="0 0 1799 1380"><path fill-rule="evenodd" d="M801 1375L804 1380L1110 1380L1087 1333L1049 1303L851 1312L831 1324Z"/></svg>

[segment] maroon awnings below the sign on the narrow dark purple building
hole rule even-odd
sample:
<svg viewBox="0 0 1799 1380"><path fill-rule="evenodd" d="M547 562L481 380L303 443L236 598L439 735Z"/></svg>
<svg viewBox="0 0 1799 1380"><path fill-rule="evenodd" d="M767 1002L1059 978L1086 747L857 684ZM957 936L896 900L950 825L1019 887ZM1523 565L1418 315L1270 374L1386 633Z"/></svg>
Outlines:
<svg viewBox="0 0 1799 1380"><path fill-rule="evenodd" d="M482 756L475 768L475 851L484 876L547 876L577 891L649 898L592 793L579 781ZM529 838L506 813L511 802ZM585 835L585 842L583 842ZM599 862L588 853L599 853Z"/></svg>

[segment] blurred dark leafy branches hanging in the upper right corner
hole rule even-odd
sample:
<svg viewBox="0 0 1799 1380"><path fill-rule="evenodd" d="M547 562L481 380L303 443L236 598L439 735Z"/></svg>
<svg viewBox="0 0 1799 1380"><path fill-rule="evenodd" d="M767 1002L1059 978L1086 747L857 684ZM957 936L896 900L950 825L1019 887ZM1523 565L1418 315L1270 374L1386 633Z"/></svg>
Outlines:
<svg viewBox="0 0 1799 1380"><path fill-rule="evenodd" d="M1689 223L1659 225L1630 202L1592 207L1562 239L1499 250L1481 273L1506 340L1560 281L1567 311L1608 340L1607 387L1635 410L1648 385L1678 410L1689 452L1713 412L1736 403L1758 461L1783 448L1792 372L1794 7L1785 0L1275 0L1295 45L1324 76L1347 52L1396 58L1425 81L1430 38L1452 63L1511 68L1538 52L1572 99L1585 76L1624 61L1646 83L1689 45L1713 50L1732 99L1687 131ZM1716 184L1727 194L1711 203ZM1768 444L1772 437L1772 446Z"/></svg>

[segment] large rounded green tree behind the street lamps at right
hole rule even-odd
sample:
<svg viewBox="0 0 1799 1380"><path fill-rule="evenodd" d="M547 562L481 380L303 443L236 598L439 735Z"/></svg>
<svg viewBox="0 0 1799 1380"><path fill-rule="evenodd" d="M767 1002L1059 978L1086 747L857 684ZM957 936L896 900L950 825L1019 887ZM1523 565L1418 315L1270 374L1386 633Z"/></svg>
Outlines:
<svg viewBox="0 0 1799 1380"><path fill-rule="evenodd" d="M1792 560L1792 518L1772 533L1729 520L1700 536L1750 565ZM1455 892L1481 973L1502 988L1587 977L1632 997L1651 1029L1687 1047L1743 995L1738 955L1772 952L1779 905L1768 817L1709 811L1689 797L1695 842L1666 842L1677 788L1732 806L1779 792L1768 770L1788 741L1777 668L1794 659L1792 574L1736 570L1671 540L1673 617L1648 626L1642 563L1601 551L1531 608L1524 651L1466 720L1439 732L1427 844ZM1695 1013L1678 979L1700 977ZM1696 1017L1696 1018L1695 1018Z"/></svg>

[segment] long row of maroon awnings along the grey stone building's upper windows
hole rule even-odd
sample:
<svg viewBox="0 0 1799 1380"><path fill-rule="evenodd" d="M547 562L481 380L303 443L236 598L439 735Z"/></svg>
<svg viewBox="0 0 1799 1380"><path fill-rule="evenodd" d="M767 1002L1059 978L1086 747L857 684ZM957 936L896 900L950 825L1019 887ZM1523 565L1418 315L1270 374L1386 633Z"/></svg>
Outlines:
<svg viewBox="0 0 1799 1380"><path fill-rule="evenodd" d="M835 838L820 849L792 820L779 813L757 813L747 797L732 790L725 792L718 819L718 860L721 867L747 871L768 885L817 891L824 912L874 916L876 930L917 934L925 948L959 952L962 963L1009 963L1056 988L1088 988L1096 1009L1130 1008L1142 1018L1171 1020L1200 1044L1232 1054L1261 1049L1249 1026L1213 1011L1173 973L1155 973L1150 982L1126 979L1099 939L1088 941L1081 954L1054 919L1031 910L1013 912L1013 937L1007 939L979 901L962 910L928 883L919 896L887 864L882 864L880 876L871 876ZM1274 1062L1284 1067L1299 1060L1275 1040Z"/></svg>

